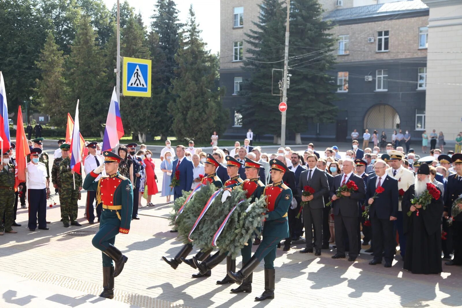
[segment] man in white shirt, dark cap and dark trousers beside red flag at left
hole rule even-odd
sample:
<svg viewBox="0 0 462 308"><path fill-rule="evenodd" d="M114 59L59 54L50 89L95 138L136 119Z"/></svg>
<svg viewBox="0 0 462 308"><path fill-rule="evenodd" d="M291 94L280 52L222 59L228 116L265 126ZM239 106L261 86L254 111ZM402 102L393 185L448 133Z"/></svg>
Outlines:
<svg viewBox="0 0 462 308"><path fill-rule="evenodd" d="M49 230L47 228L47 198L50 196L50 188L46 179L47 169L43 163L40 163L39 156L42 149L35 148L30 151L31 161L24 170L27 173L29 183L29 223L30 231L35 231L38 218L38 229Z"/></svg>

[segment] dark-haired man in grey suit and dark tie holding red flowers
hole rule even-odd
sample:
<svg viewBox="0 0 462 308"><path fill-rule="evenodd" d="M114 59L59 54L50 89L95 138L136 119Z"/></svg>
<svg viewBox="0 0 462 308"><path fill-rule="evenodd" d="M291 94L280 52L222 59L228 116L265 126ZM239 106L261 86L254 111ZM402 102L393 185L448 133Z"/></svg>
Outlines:
<svg viewBox="0 0 462 308"><path fill-rule="evenodd" d="M302 196L302 201L308 201L308 204L303 208L303 221L305 225L306 248L300 252L313 253L313 228L315 228L315 248L316 256L321 255L322 246L322 209L324 208L324 195L329 191L327 175L321 169L316 168L317 156L314 154L308 155L306 158L308 169L300 174L298 181L298 195ZM310 186L315 193L308 197L302 195L305 186Z"/></svg>

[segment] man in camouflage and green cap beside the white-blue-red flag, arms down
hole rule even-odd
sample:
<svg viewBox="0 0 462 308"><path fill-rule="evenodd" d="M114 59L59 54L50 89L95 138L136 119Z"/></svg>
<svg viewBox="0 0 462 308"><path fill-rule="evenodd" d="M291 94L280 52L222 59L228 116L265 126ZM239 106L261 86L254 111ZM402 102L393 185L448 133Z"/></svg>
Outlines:
<svg viewBox="0 0 462 308"><path fill-rule="evenodd" d="M69 151L70 145L67 148ZM75 177L75 188L74 188ZM73 226L81 226L77 222L77 212L79 207L77 201L79 200L79 191L82 189L82 175L76 173L71 169L71 159L69 155L59 164L59 178L61 181L61 192L59 194L61 202L61 221L64 227L69 228L69 221Z"/></svg>

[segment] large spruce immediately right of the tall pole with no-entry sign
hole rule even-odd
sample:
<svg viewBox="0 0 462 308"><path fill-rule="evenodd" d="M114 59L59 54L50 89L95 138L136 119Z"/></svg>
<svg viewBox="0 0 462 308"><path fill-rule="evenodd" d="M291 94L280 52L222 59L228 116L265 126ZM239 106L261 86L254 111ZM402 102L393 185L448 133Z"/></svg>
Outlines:
<svg viewBox="0 0 462 308"><path fill-rule="evenodd" d="M322 20L317 0L292 0L291 6L289 53L296 56L289 60L287 130L295 133L296 143L301 144L300 133L309 122L336 119L337 109L332 104L336 86L327 73L335 63L335 39L329 32L331 24Z"/></svg>

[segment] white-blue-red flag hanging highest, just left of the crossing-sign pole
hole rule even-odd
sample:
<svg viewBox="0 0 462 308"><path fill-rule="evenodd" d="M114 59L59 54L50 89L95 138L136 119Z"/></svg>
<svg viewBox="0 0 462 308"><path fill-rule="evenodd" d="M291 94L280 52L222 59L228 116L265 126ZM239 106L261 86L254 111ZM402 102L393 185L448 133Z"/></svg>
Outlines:
<svg viewBox="0 0 462 308"><path fill-rule="evenodd" d="M103 151L112 151L123 137L122 118L120 117L119 102L117 102L116 87L112 91L106 128L104 129Z"/></svg>

